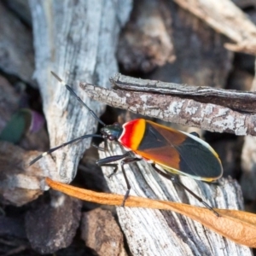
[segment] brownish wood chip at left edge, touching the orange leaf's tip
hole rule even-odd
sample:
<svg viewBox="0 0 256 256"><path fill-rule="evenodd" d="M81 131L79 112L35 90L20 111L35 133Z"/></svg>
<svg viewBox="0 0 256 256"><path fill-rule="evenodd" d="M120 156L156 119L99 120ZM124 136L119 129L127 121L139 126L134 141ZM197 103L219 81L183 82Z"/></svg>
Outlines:
<svg viewBox="0 0 256 256"><path fill-rule="evenodd" d="M34 166L27 170L24 163L32 156L31 153L12 143L0 142L0 155L0 195L4 201L20 207L42 195L49 165L44 163L42 170ZM57 178L54 173L53 176Z"/></svg>

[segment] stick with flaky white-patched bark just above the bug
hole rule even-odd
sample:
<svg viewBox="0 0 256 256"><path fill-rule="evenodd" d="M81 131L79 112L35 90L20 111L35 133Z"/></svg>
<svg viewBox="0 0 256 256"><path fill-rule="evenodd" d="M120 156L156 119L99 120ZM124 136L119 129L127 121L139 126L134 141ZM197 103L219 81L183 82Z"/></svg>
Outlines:
<svg viewBox="0 0 256 256"><path fill-rule="evenodd" d="M207 131L255 135L255 114L239 113L212 103L141 91L109 90L81 83L88 96L114 108L127 109L168 122L200 127Z"/></svg>

